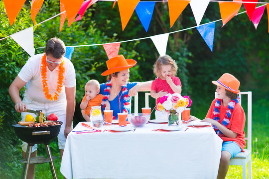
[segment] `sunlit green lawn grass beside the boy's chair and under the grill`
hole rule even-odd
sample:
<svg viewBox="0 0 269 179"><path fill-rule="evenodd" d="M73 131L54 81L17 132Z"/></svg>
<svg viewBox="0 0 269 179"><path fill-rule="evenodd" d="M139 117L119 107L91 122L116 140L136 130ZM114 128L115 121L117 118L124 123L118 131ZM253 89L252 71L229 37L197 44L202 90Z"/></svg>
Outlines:
<svg viewBox="0 0 269 179"><path fill-rule="evenodd" d="M243 105L244 107L244 105ZM260 100L252 107L252 174L253 179L269 179L269 102ZM244 107L245 109L245 107ZM245 110L245 112L247 112ZM40 146L40 145L39 145ZM54 162L58 179L60 173L60 153L57 144L51 143L52 155L58 157ZM39 149L40 150L40 149ZM46 156L41 147L41 154ZM20 173L21 171L19 171ZM35 179L51 179L49 164L36 165ZM226 179L242 179L242 166L230 166Z"/></svg>

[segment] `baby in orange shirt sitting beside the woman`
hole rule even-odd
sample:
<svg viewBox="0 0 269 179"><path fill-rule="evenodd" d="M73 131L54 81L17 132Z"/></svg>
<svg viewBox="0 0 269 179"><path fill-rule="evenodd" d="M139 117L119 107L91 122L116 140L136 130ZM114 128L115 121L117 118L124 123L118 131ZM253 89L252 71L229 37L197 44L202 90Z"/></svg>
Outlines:
<svg viewBox="0 0 269 179"><path fill-rule="evenodd" d="M100 84L97 80L90 80L86 83L85 95L80 104L81 113L86 121L90 121L92 106L101 106L103 95L99 94L99 92ZM106 106L110 108L109 101L106 102Z"/></svg>

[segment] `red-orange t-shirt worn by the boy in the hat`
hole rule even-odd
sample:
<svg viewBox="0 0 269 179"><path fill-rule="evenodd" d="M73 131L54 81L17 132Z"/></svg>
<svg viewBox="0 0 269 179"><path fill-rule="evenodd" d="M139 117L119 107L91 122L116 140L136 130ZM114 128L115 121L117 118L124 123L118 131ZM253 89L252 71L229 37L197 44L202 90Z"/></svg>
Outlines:
<svg viewBox="0 0 269 179"><path fill-rule="evenodd" d="M213 119L213 117L214 117L213 111L214 111L216 100L217 99L214 99L212 101L211 106L207 112L206 118L208 117L208 118ZM223 121L227 109L228 109L228 105L223 106L223 103L221 100L221 105L220 105L220 109L219 109L220 110L219 123L221 123ZM230 119L230 123L227 125L227 129L230 129L233 132L237 133L237 137L236 138L229 138L223 134L221 134L219 137L223 141L233 141L233 142L237 143L239 145L239 147L243 150L246 146L246 141L244 139L245 138L245 132L244 132L245 122L246 122L246 115L245 115L244 109L238 103L235 105L234 111L233 111L231 119Z"/></svg>

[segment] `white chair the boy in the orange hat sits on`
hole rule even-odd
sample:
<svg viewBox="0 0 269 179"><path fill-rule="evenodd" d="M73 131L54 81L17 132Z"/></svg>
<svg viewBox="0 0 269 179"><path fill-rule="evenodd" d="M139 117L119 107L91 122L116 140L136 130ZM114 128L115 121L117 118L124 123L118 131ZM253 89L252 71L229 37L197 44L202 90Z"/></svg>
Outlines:
<svg viewBox="0 0 269 179"><path fill-rule="evenodd" d="M239 97L241 98L240 104L242 101L242 95L248 95L248 114L246 119L248 121L248 133L245 137L247 140L247 149L244 149L245 152L237 154L233 159L230 160L230 165L242 165L243 169L243 179L247 179L247 164L248 164L248 173L249 179L252 179L252 161L251 161L251 125L252 125L252 91L239 92ZM215 98L217 97L217 92L215 92Z"/></svg>

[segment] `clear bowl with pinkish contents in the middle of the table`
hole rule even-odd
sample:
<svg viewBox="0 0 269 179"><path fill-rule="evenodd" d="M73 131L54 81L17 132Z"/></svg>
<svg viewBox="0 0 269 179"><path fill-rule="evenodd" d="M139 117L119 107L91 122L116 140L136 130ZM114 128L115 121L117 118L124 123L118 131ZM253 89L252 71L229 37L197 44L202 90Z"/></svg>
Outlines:
<svg viewBox="0 0 269 179"><path fill-rule="evenodd" d="M127 118L134 127L143 127L149 120L150 114L132 113L132 114L128 114Z"/></svg>

